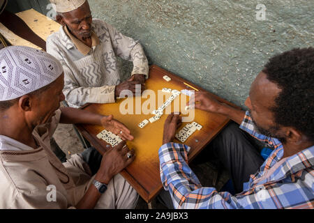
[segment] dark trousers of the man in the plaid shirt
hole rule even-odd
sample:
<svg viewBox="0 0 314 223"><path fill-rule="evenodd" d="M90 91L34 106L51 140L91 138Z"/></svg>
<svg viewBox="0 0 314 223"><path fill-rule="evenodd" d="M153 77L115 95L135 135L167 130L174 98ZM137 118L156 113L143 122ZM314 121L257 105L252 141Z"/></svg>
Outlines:
<svg viewBox="0 0 314 223"><path fill-rule="evenodd" d="M195 157L193 164L218 159L229 172L234 191L239 193L243 191L243 184L248 182L250 175L255 174L264 162L259 146L256 139L232 122ZM173 208L169 192L160 192L158 200L168 208Z"/></svg>

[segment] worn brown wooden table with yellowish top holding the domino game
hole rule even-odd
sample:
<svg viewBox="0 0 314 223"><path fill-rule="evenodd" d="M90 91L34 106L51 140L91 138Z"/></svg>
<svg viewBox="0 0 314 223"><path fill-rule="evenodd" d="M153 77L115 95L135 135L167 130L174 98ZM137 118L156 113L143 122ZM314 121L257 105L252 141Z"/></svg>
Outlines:
<svg viewBox="0 0 314 223"><path fill-rule="evenodd" d="M163 76L167 75L172 80L170 82L166 82L163 79ZM177 89L181 91L181 89L189 89L193 90L192 88L188 87L184 82L195 89L200 91L205 91L201 89L199 86L195 86L186 80L173 75L167 70L163 70L158 66L151 66L149 68L149 79L146 82L146 89L153 90L157 92L158 90L163 89L164 87L170 89ZM167 95L165 93L166 100L170 94ZM162 184L160 181L160 173L159 173L159 158L158 158L158 149L162 146L162 137L163 137L163 125L165 123L165 118L167 115L164 114L161 118L156 121L155 123L149 123L144 128L139 128L137 125L142 122L145 118L148 120L153 114L121 114L119 107L120 105L125 105L126 100L133 105L135 105L135 101L140 100L142 105L144 105L147 98L143 98L147 96L147 93L143 93L141 97L134 97L134 98L124 98L118 99L116 103L113 104L90 104L82 109L90 111L90 112L97 112L103 115L113 114L114 118L124 123L131 131L131 134L135 137L133 141L128 141L127 145L129 148L134 148L135 153L137 154L134 162L130 164L124 171L121 172L121 175L128 180L128 183L132 185L135 190L140 194L142 199L149 203L160 190L162 189ZM232 105L230 102L219 98L218 96L214 95L220 102L225 102L228 105ZM157 97L157 96L156 96ZM180 95L181 97L186 97L185 95ZM179 97L178 97L179 98ZM179 99L178 99L179 100ZM188 100L188 97L186 98ZM156 102L158 99L156 98ZM122 104L123 103L123 104ZM158 107L163 102L158 104ZM183 101L180 103L181 111L184 111L186 103ZM234 105L232 105L234 106ZM156 107L156 108L158 108ZM235 107L235 106L234 106ZM153 111L155 108L151 108ZM172 112L174 111L174 102L172 102ZM135 108L133 109L135 112ZM186 115L187 116L187 115ZM213 139L220 130L230 121L225 116L220 114L211 114L208 112L203 112L201 110L195 109L195 119L193 120L197 123L200 123L203 128L200 131L196 131L191 137L189 137L185 144L190 146L190 153L188 154L189 160L192 160L202 148L207 146L211 139ZM181 128L187 123L183 123ZM107 144L102 139L98 139L96 135L103 130L101 126L96 125L77 125L77 128L83 134L83 136L91 142L95 148L100 151L100 153L104 153L107 150ZM178 130L178 131L179 131ZM175 142L177 139L174 140Z"/></svg>

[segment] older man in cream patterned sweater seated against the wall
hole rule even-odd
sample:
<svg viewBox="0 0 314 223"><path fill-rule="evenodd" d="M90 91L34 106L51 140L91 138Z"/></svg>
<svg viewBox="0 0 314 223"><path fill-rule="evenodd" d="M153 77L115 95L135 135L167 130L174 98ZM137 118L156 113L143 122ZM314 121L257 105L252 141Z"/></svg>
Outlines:
<svg viewBox="0 0 314 223"><path fill-rule="evenodd" d="M70 107L115 102L123 90L135 93L136 84L144 91L149 66L138 41L102 20L93 20L86 0L50 1L62 26L47 38L47 52L61 61L63 93ZM125 82L121 82L117 56L133 61L131 77Z"/></svg>

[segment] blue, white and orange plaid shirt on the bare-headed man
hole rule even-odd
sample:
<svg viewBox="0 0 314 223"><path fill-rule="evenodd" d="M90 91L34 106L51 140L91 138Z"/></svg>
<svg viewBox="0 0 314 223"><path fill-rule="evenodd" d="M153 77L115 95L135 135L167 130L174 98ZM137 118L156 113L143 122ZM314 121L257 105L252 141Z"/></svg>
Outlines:
<svg viewBox="0 0 314 223"><path fill-rule="evenodd" d="M314 146L281 159L283 144L255 132L249 112L240 128L274 151L244 184L244 191L235 196L202 187L187 164L189 146L168 143L160 147L160 177L165 190L170 191L174 208L313 208Z"/></svg>

